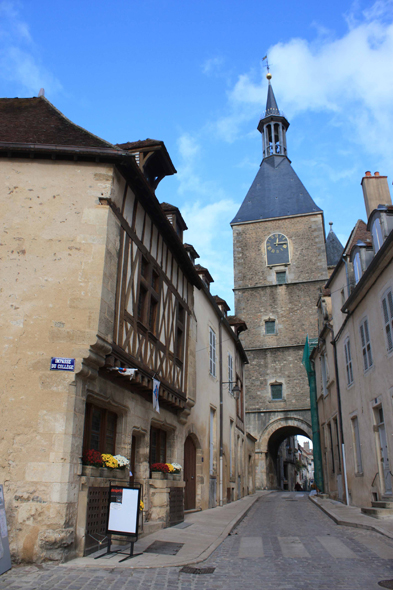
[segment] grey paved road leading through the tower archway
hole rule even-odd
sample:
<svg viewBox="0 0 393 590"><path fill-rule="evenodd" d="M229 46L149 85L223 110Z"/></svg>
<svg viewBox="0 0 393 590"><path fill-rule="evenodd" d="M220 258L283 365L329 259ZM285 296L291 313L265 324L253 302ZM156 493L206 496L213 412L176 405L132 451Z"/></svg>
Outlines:
<svg viewBox="0 0 393 590"><path fill-rule="evenodd" d="M277 492L198 567L215 569L24 567L2 576L0 590L372 590L393 579L393 541L335 525L306 495Z"/></svg>

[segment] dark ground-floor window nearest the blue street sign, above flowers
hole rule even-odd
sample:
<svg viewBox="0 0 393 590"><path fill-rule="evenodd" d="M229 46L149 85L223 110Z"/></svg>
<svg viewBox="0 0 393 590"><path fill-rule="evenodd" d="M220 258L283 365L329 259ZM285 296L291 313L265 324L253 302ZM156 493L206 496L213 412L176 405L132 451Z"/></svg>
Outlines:
<svg viewBox="0 0 393 590"><path fill-rule="evenodd" d="M115 455L117 415L94 404L86 404L83 450L94 449Z"/></svg>

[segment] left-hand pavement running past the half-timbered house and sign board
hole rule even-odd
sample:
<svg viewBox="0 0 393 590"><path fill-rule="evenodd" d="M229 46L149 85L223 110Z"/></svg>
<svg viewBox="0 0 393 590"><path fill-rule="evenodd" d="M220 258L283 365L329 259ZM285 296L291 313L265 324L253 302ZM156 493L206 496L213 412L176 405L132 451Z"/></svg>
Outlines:
<svg viewBox="0 0 393 590"><path fill-rule="evenodd" d="M183 566L204 561L223 542L234 526L242 520L251 506L259 498L269 494L269 491L258 491L252 496L245 496L241 500L225 504L225 506L186 514L184 523L161 529L146 535L134 545L134 553L142 553L132 559L119 563L126 555L109 554L101 559L94 559L104 550L93 553L88 557L73 559L59 567L63 568L156 568ZM176 555L162 553L143 553L152 543L181 544ZM165 551L174 550L174 546L162 546ZM122 549L129 553L129 544Z"/></svg>

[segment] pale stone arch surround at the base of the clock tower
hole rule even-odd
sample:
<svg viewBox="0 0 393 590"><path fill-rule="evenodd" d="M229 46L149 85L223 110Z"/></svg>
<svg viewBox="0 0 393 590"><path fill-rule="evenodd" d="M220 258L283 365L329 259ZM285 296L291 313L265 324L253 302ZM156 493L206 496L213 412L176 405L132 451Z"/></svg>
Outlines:
<svg viewBox="0 0 393 590"><path fill-rule="evenodd" d="M257 487L277 488L277 455L281 443L290 436L303 435L312 440L311 423L297 416L280 417L262 431L256 449Z"/></svg>

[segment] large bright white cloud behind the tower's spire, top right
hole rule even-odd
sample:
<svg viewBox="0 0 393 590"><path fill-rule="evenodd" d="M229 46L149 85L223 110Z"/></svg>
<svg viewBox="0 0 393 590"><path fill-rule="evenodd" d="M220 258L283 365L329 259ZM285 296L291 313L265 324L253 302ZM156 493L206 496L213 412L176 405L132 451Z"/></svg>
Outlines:
<svg viewBox="0 0 393 590"><path fill-rule="evenodd" d="M393 0L378 0L360 18L353 10L346 19L348 29L341 38L319 27L312 41L293 38L270 48L279 107L289 119L310 111L325 113L332 125L342 128L345 141L369 153L377 149L391 161ZM249 72L238 77L228 95L228 113L212 125L221 139L233 142L244 135L244 123L261 114L264 74L263 69L263 76Z"/></svg>

